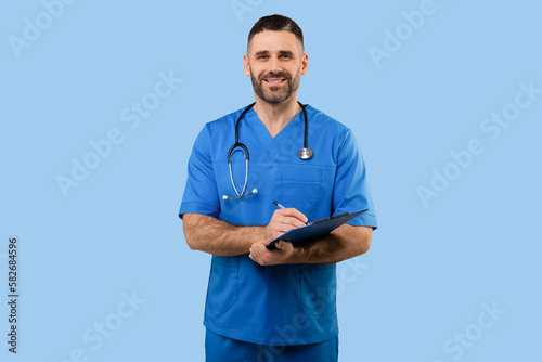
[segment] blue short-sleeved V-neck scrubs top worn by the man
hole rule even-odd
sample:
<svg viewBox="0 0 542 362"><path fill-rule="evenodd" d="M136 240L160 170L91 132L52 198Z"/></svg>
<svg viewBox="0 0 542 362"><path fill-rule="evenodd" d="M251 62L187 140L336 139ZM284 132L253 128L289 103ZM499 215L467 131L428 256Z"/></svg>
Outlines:
<svg viewBox="0 0 542 362"><path fill-rule="evenodd" d="M228 151L235 142L238 109L209 122L197 137L179 210L203 214L235 225L266 225L278 201L309 220L369 209L352 225L376 228L365 166L352 132L307 105L308 146L314 156L301 160L304 114L297 114L274 138L254 109L240 124L238 140L249 152L247 191L238 201L230 180ZM245 181L242 152L232 155L233 179ZM335 264L261 267L248 255L211 260L204 324L224 337L281 346L320 342L338 334Z"/></svg>

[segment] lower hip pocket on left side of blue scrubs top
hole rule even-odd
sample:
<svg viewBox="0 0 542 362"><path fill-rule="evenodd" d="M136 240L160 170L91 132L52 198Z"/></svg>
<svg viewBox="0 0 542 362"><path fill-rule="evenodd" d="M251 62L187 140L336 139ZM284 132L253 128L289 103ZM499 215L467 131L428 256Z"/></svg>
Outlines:
<svg viewBox="0 0 542 362"><path fill-rule="evenodd" d="M212 257L207 308L225 313L237 300L238 257Z"/></svg>

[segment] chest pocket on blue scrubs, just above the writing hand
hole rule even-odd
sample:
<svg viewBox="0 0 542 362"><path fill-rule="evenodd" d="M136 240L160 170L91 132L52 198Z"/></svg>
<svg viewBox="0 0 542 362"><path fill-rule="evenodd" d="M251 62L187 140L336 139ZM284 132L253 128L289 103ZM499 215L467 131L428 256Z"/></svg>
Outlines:
<svg viewBox="0 0 542 362"><path fill-rule="evenodd" d="M317 206L322 188L322 170L307 166L286 166L282 169L281 196L285 207L294 207L307 215Z"/></svg>

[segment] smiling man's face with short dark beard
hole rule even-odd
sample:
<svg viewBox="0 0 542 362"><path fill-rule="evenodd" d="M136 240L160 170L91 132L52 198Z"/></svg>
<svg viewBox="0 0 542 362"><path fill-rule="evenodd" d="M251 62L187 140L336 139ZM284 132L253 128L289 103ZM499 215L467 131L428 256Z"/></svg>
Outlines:
<svg viewBox="0 0 542 362"><path fill-rule="evenodd" d="M262 31L254 36L244 56L256 95L278 104L297 94L301 75L307 74L307 54L289 31ZM296 96L297 99L297 96Z"/></svg>

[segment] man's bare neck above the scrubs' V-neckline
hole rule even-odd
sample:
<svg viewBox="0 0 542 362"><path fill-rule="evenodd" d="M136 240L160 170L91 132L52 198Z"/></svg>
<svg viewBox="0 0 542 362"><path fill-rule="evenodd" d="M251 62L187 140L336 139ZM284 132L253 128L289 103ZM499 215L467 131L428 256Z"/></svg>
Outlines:
<svg viewBox="0 0 542 362"><path fill-rule="evenodd" d="M273 138L279 134L279 132L286 127L300 111L301 107L297 103L297 94L293 94L288 100L278 104L267 103L256 95L254 112L256 112Z"/></svg>

